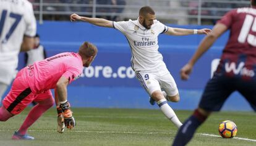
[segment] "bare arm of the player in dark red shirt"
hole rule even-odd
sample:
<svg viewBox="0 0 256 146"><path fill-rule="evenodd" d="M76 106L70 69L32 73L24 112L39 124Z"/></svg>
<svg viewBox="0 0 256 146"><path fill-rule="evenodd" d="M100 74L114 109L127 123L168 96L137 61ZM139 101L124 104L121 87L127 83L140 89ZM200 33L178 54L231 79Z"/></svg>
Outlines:
<svg viewBox="0 0 256 146"><path fill-rule="evenodd" d="M216 39L218 39L218 37L220 37L221 34L223 34L226 30L228 30L227 26L222 23L217 23L214 26L213 31L209 33L207 36L205 36L205 38L203 38L195 54L192 56L189 62L181 69L181 79L189 78L189 75L192 71L195 62L197 62L197 60L200 59L200 57L206 51L208 51L208 49L210 49L210 47L216 41Z"/></svg>

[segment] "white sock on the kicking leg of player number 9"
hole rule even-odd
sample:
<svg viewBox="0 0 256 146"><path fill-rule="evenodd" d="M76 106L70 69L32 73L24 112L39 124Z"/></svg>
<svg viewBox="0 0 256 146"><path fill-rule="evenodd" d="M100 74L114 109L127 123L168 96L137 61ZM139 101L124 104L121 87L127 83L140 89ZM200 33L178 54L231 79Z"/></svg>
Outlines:
<svg viewBox="0 0 256 146"><path fill-rule="evenodd" d="M180 128L182 126L181 121L177 118L176 114L173 111L173 108L171 108L166 99L161 99L158 102L158 106L160 107L163 114L175 124L177 128Z"/></svg>

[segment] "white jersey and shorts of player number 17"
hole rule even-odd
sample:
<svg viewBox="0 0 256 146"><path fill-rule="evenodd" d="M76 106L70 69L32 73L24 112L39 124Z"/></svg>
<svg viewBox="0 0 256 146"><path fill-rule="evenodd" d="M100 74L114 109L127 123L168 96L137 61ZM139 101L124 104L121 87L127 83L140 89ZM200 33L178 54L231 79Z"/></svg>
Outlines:
<svg viewBox="0 0 256 146"><path fill-rule="evenodd" d="M35 36L36 20L27 0L0 0L0 82L15 76L23 36Z"/></svg>

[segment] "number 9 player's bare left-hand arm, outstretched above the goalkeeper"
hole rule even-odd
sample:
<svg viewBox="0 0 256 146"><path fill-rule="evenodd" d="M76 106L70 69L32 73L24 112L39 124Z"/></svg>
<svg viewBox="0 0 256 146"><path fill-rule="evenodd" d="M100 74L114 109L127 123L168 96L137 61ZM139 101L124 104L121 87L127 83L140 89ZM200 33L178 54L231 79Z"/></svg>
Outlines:
<svg viewBox="0 0 256 146"><path fill-rule="evenodd" d="M76 21L76 20L80 20L83 22L88 22L91 23L93 25L97 25L97 26L103 26L103 27L109 27L109 28L113 28L113 22L106 20L104 18L89 18L89 17L82 17L80 15L77 14L72 14L70 15L70 21Z"/></svg>

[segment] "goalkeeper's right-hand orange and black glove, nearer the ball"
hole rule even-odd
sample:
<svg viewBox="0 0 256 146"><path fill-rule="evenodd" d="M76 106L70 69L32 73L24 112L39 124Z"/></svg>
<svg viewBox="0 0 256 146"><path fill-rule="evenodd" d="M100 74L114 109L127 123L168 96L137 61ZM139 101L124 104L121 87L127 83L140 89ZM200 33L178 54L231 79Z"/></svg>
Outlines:
<svg viewBox="0 0 256 146"><path fill-rule="evenodd" d="M65 126L69 129L74 128L76 123L75 118L73 117L73 112L69 109L69 102L62 103L60 107L63 111Z"/></svg>

